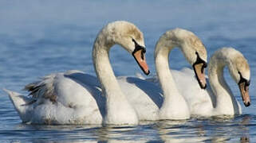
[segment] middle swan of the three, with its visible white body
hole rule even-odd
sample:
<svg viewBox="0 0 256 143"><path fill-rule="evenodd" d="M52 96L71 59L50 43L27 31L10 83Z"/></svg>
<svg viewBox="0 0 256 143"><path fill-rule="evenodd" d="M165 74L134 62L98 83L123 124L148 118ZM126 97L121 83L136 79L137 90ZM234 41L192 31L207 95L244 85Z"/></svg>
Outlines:
<svg viewBox="0 0 256 143"><path fill-rule="evenodd" d="M163 99L160 95L152 92L156 91L156 87L151 86L151 82L147 81L144 81L143 86L148 88L142 90L148 95L131 94L133 99L129 99L132 106L135 107L140 120L178 120L190 118L187 102L183 96L179 94L177 89L178 86L175 85L169 70L169 52L175 47L179 47L188 62L193 65L201 87L206 87L204 68L206 67L207 51L202 42L195 36L195 34L187 30L169 30L160 37L155 49L156 72L160 77ZM128 84L128 82L124 83ZM148 85L150 85L150 87ZM195 83L195 86L199 86L198 83ZM122 89L123 87L124 86L122 86ZM137 87L140 87L140 85L137 85ZM132 91L132 93L133 92L134 91ZM153 97L152 100L148 100L148 96L151 98ZM156 99L159 99L160 102L156 102Z"/></svg>

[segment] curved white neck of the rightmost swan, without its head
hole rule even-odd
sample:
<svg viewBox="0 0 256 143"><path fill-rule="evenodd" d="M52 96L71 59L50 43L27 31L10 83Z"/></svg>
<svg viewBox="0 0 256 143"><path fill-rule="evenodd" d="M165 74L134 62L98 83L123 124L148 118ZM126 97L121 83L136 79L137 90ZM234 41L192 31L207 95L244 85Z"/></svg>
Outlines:
<svg viewBox="0 0 256 143"><path fill-rule="evenodd" d="M211 57L208 75L211 89L216 97L216 113L230 114L238 110L238 103L223 76L225 66L229 65L229 60L223 55L225 54L217 53Z"/></svg>

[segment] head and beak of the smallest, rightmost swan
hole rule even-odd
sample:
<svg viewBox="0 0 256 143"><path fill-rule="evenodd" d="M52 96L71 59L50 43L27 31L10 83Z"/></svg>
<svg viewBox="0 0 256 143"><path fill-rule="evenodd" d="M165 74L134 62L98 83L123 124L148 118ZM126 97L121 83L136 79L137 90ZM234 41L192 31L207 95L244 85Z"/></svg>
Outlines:
<svg viewBox="0 0 256 143"><path fill-rule="evenodd" d="M234 48L222 48L221 50L226 55L230 75L238 83L242 102L245 106L250 106L250 67L246 58Z"/></svg>

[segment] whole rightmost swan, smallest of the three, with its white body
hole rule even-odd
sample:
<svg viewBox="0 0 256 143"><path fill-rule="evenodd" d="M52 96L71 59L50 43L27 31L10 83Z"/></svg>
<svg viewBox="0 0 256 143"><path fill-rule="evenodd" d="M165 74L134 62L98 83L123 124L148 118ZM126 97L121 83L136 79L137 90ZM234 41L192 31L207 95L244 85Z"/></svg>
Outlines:
<svg viewBox="0 0 256 143"><path fill-rule="evenodd" d="M242 114L241 106L234 98L230 87L223 77L223 68L229 69L231 77L238 83L245 106L250 106L249 85L250 68L241 52L234 48L221 48L216 51L209 62L209 83L207 91L200 90L194 84L184 84L179 91L189 103L192 115L209 117L219 115ZM175 80L179 84L179 80ZM193 76L187 76L182 83L196 83Z"/></svg>

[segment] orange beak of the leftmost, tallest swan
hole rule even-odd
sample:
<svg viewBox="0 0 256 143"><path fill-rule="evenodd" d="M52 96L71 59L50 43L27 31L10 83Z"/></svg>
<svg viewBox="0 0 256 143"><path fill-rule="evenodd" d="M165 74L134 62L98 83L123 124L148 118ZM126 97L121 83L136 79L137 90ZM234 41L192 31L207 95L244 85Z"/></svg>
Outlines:
<svg viewBox="0 0 256 143"><path fill-rule="evenodd" d="M132 55L135 58L136 62L139 64L139 66L140 66L141 70L144 72L144 74L148 75L150 72L148 69L148 64L146 62L144 49L137 50L136 52L133 52Z"/></svg>

